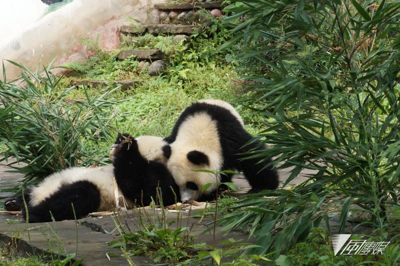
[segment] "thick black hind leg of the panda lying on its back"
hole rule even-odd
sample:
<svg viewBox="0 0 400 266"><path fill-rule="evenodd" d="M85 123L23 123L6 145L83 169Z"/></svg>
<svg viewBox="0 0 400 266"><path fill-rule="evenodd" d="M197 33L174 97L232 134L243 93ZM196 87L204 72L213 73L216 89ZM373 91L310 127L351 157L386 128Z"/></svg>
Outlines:
<svg viewBox="0 0 400 266"><path fill-rule="evenodd" d="M35 206L28 206L29 223L73 220L72 204L76 219L95 212L100 206L100 191L89 181L77 181L62 187ZM51 212L51 215L50 215ZM26 220L25 210L22 216Z"/></svg>

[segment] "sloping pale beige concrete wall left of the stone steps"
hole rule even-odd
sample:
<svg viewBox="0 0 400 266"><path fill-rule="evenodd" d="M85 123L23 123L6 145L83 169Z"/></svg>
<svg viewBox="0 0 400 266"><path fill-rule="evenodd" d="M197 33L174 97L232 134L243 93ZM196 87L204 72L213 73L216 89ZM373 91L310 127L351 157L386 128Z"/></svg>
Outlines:
<svg viewBox="0 0 400 266"><path fill-rule="evenodd" d="M154 3L164 0L74 0L53 11L26 31L0 47L0 59L8 59L33 68L47 65L54 57L67 58L79 46L82 37L111 23L118 27L130 16L141 23L156 23ZM59 60L63 62L65 59ZM7 80L17 77L18 69L4 61ZM0 63L0 73L2 66Z"/></svg>

